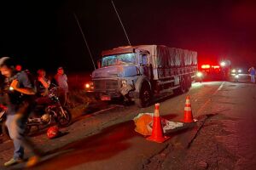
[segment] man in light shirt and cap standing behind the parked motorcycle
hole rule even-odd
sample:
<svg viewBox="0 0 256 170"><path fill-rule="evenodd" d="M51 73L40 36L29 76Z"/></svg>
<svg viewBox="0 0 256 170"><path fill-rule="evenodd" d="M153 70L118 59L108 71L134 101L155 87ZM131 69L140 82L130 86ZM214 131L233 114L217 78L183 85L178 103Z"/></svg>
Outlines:
<svg viewBox="0 0 256 170"><path fill-rule="evenodd" d="M55 75L55 81L57 85L61 88L63 98L61 104L66 105L67 103L67 94L68 94L68 85L67 85L67 75L64 73L64 69L59 67L57 74Z"/></svg>

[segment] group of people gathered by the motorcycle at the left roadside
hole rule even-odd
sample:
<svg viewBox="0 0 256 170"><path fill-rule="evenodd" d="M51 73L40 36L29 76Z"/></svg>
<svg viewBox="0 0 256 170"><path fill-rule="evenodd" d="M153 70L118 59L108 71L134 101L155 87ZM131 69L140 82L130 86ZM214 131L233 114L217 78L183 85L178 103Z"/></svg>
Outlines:
<svg viewBox="0 0 256 170"><path fill-rule="evenodd" d="M0 59L0 71L4 77L1 82L1 100L7 107L6 126L9 130L9 136L13 140L15 150L14 156L4 166L11 166L24 161L24 147L30 149L34 156L26 162L26 167L32 167L37 164L42 155L32 141L26 138L26 120L36 105L45 101L45 96L50 88L50 80L45 77L44 69L38 70L38 77L32 82L29 71L22 71L20 65L15 64L15 60L9 57ZM62 104L67 102L67 75L62 67L57 69L57 73L52 81L61 88L63 94ZM35 96L37 96L35 98ZM40 103L41 102L41 103Z"/></svg>

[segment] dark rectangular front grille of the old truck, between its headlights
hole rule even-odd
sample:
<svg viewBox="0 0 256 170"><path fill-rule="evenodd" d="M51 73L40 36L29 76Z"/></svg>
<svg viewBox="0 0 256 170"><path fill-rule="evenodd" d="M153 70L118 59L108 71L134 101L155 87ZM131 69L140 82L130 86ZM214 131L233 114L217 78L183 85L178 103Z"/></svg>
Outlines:
<svg viewBox="0 0 256 170"><path fill-rule="evenodd" d="M94 80L93 84L96 90L113 90L119 88L119 83L117 80Z"/></svg>

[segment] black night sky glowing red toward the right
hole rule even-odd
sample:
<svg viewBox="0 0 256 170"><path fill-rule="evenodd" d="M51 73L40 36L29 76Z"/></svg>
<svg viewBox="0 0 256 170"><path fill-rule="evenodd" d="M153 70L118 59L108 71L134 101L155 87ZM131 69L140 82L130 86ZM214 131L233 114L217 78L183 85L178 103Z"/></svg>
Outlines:
<svg viewBox="0 0 256 170"><path fill-rule="evenodd" d="M19 3L18 3L19 2ZM54 2L54 3L53 3ZM230 59L256 66L256 2L246 0L114 0L131 44L163 44L198 52L202 62ZM0 3L0 56L31 70L92 71L77 14L93 57L127 45L111 1Z"/></svg>

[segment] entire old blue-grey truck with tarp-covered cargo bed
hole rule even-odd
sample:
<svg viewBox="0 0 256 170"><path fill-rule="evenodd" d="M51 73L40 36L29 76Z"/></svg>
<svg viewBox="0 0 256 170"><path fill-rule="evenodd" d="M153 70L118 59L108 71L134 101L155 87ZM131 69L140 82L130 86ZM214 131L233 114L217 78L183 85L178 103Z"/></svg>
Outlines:
<svg viewBox="0 0 256 170"><path fill-rule="evenodd" d="M173 92L185 93L195 80L197 53L164 45L138 45L102 51L90 89L98 99L124 99L139 107Z"/></svg>

